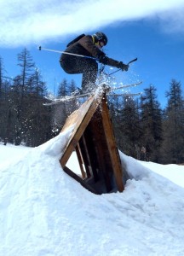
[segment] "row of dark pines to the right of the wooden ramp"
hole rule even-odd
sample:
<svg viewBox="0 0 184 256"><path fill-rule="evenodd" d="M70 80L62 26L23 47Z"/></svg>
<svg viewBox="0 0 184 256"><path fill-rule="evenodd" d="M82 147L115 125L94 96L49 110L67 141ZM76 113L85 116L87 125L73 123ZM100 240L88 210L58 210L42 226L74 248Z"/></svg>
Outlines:
<svg viewBox="0 0 184 256"><path fill-rule="evenodd" d="M149 85L140 98L112 103L112 124L118 148L139 160L184 163L184 101L181 83L172 79L160 107L157 89ZM122 104L123 102L123 104ZM121 105L122 104L122 105Z"/></svg>

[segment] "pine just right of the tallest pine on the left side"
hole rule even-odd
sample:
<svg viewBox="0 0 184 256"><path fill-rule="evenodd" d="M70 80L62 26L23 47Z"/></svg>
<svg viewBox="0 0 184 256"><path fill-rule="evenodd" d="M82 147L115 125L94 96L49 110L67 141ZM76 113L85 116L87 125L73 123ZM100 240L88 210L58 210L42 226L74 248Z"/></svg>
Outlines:
<svg viewBox="0 0 184 256"><path fill-rule="evenodd" d="M25 142L27 146L35 147L49 138L50 111L43 106L43 97L47 94L47 88L38 69L27 84L30 91L25 98Z"/></svg>

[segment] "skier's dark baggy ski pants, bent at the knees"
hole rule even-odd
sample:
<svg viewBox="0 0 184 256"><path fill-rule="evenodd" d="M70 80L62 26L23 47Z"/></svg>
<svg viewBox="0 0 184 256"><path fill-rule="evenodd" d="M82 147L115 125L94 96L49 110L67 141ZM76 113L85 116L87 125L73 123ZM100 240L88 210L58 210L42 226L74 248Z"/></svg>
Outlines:
<svg viewBox="0 0 184 256"><path fill-rule="evenodd" d="M98 64L95 60L63 54L60 57L60 66L66 73L83 74L82 90L85 91L91 87L91 89L95 87L95 80L98 73Z"/></svg>

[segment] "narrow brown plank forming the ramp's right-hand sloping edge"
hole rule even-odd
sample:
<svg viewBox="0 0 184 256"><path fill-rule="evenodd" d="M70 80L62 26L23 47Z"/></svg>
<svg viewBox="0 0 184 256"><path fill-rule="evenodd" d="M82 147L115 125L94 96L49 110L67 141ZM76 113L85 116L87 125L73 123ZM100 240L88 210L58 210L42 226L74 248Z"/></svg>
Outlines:
<svg viewBox="0 0 184 256"><path fill-rule="evenodd" d="M122 178L122 166L118 154L118 148L116 146L115 137L112 131L112 122L110 114L106 104L106 95L102 99L102 123L104 131L106 133L106 142L108 146L108 151L112 161L112 168L117 183L118 191L122 192L124 190L123 178Z"/></svg>

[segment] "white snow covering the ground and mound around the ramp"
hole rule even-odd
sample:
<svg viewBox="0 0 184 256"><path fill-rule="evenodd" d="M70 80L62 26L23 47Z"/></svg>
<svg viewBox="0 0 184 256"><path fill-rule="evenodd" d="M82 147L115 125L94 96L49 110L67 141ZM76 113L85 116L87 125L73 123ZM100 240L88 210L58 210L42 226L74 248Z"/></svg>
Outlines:
<svg viewBox="0 0 184 256"><path fill-rule="evenodd" d="M184 255L184 166L119 151L124 192L94 195L60 167L71 132L37 148L0 144L0 255Z"/></svg>

